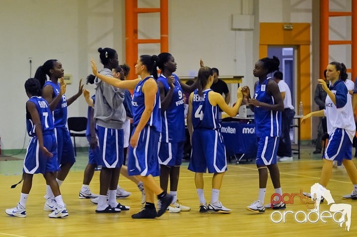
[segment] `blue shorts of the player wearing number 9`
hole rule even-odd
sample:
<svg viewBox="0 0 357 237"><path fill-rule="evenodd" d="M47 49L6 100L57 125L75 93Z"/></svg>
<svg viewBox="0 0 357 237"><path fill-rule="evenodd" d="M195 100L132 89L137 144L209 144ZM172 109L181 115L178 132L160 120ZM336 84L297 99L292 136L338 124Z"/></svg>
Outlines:
<svg viewBox="0 0 357 237"><path fill-rule="evenodd" d="M184 142L159 142L159 164L180 166L182 164Z"/></svg>

